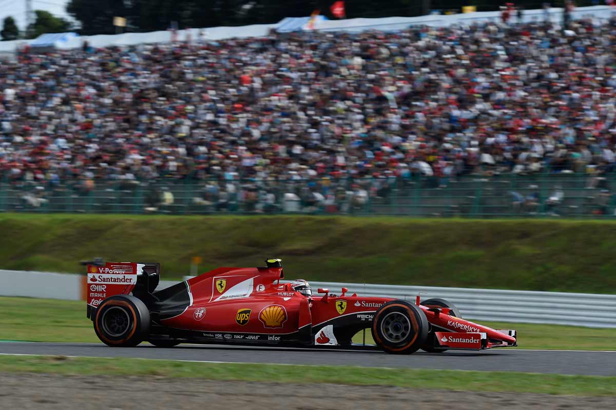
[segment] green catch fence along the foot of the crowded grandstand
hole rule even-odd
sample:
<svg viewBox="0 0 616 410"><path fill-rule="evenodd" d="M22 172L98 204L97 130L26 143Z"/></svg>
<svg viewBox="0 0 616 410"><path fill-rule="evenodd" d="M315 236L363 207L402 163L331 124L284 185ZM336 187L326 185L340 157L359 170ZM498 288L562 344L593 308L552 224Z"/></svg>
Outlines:
<svg viewBox="0 0 616 410"><path fill-rule="evenodd" d="M0 180L0 211L614 218L616 173Z"/></svg>

